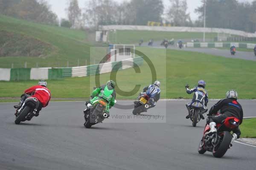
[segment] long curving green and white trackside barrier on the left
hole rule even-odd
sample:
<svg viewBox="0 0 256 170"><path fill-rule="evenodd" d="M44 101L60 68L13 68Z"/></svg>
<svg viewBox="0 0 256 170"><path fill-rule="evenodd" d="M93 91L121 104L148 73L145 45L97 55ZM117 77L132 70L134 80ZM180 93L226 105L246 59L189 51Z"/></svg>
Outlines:
<svg viewBox="0 0 256 170"><path fill-rule="evenodd" d="M0 69L0 81L56 80L65 77L85 77L119 69L128 69L142 64L143 58L138 57L111 63L70 68Z"/></svg>

